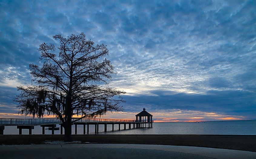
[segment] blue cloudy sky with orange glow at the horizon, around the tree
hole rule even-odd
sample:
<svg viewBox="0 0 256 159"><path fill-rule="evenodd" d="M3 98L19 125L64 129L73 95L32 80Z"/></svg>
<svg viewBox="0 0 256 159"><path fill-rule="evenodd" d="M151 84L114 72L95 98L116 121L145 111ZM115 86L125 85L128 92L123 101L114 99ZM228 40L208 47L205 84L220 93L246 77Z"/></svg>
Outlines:
<svg viewBox="0 0 256 159"><path fill-rule="evenodd" d="M17 115L43 42L84 32L104 43L124 111L155 122L256 119L256 1L0 1L0 117ZM26 117L30 118L30 117Z"/></svg>

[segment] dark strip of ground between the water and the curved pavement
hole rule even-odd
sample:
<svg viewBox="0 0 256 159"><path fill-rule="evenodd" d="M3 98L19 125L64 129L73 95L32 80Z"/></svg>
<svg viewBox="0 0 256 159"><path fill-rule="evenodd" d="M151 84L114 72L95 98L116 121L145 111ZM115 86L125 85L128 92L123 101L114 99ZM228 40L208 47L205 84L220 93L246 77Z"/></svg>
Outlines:
<svg viewBox="0 0 256 159"><path fill-rule="evenodd" d="M0 144L45 144L63 139L64 135L0 135ZM179 145L256 152L256 135L72 135L72 139L81 143Z"/></svg>

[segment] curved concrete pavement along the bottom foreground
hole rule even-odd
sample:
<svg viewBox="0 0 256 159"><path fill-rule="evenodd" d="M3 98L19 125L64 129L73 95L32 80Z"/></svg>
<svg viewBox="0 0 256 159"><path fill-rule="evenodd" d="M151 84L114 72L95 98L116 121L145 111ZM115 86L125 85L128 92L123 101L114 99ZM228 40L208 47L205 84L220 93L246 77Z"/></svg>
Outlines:
<svg viewBox="0 0 256 159"><path fill-rule="evenodd" d="M256 152L171 145L135 144L45 144L1 145L0 158L175 158L255 159Z"/></svg>

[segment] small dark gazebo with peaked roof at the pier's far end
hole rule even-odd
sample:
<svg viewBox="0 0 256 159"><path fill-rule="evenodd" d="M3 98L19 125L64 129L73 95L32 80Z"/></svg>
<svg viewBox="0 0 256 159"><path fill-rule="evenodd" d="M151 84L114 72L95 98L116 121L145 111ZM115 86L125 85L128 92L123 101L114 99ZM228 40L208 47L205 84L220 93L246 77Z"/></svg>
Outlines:
<svg viewBox="0 0 256 159"><path fill-rule="evenodd" d="M146 124L148 123L148 127L153 127L153 120L152 117L153 115L149 114L145 108L143 108L143 111L141 111L139 114L135 115L136 116L136 128L140 127L146 127Z"/></svg>

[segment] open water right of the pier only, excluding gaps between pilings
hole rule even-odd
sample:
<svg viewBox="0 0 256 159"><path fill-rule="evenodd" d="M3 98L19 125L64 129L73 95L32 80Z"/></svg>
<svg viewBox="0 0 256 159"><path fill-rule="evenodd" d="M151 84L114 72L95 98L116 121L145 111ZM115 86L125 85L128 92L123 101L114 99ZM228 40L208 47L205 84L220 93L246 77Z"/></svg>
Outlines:
<svg viewBox="0 0 256 159"><path fill-rule="evenodd" d="M256 120L153 123L153 128L108 134L256 135Z"/></svg>

